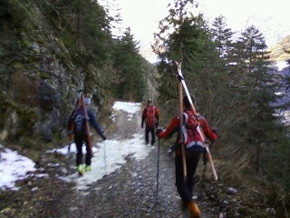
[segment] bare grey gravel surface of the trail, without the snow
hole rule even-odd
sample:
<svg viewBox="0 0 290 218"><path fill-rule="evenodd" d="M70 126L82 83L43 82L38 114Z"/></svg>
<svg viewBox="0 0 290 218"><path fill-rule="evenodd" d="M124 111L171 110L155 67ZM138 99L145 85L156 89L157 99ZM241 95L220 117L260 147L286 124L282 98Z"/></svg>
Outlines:
<svg viewBox="0 0 290 218"><path fill-rule="evenodd" d="M128 119L128 113L120 110L110 133L107 134L108 141L128 140L134 134L143 136L144 130L140 128L140 113L141 111L138 111ZM89 183L86 190L75 188L78 178L68 179L75 171L74 156L68 163L65 157L61 165L48 163L52 160L46 157L43 163L39 163L39 169L41 173L46 173L48 176L23 181L23 186L17 193L1 193L1 201L5 200L5 203L1 205L0 216L189 217L174 184L174 158L168 153L168 147L163 146L162 143L160 141L158 197L156 193L158 142L154 146L142 142L149 150L145 158L137 160L133 154L127 155L126 162L120 164L117 170ZM54 159L55 155L63 158L61 155L54 154ZM110 151L106 155L109 158ZM218 210L214 209L215 205L210 203L204 192L206 189L203 187L206 185L208 184L197 184L197 203L202 217L218 217Z"/></svg>

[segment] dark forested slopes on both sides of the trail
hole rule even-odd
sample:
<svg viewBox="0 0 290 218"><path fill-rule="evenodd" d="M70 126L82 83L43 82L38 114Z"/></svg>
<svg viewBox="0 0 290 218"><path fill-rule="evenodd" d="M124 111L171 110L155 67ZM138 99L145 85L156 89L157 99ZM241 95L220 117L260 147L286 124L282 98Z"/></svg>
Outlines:
<svg viewBox="0 0 290 218"><path fill-rule="evenodd" d="M130 27L121 36L112 34L112 24L121 22L121 17L110 17L110 8L97 1L2 1L1 141L20 143L25 148L27 141L23 137L37 135L34 124L52 119L49 115L54 108L59 109L63 122L53 129L53 136L62 138L65 116L75 97L70 91L81 84L101 110L113 100L141 102L155 94L157 86L159 97L155 104L162 109L165 124L177 112L175 61L182 60L182 71L189 92L196 97L198 112L211 126L218 127L218 142L212 145L216 164L223 169L218 175L240 186L264 187L265 199L274 194L277 201L288 194L289 125L275 114L289 108L289 103L273 103L278 100L275 93L289 89L289 77L276 74L271 67L273 60L264 36L255 26L247 27L234 40L235 33L224 17L208 24L203 15L190 14L191 6L190 0L169 5L169 15L160 21L160 33L155 34L152 46L159 62L152 65L139 54ZM285 48L287 53L289 47ZM59 70L60 66L63 70ZM53 81L67 78L67 83L62 84L66 92L63 90L59 97L64 100L56 98L64 105L47 108L39 95L33 104L19 101L31 93L17 95L22 90L15 89L22 83L16 85L18 75L28 78L29 83L37 81L37 87L49 81L55 96L60 94L61 85ZM45 93L47 89L43 90ZM12 112L17 122L7 118ZM35 149L34 144L28 148Z"/></svg>

